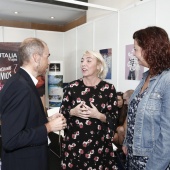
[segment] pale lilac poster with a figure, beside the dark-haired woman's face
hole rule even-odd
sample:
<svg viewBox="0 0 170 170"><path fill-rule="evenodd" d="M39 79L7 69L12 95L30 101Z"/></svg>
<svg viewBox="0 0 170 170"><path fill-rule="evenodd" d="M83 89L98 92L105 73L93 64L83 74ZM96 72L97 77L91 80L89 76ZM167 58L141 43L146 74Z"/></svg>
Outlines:
<svg viewBox="0 0 170 170"><path fill-rule="evenodd" d="M141 80L144 67L139 65L138 59L133 55L133 52L134 45L126 45L125 79Z"/></svg>

